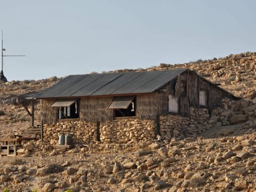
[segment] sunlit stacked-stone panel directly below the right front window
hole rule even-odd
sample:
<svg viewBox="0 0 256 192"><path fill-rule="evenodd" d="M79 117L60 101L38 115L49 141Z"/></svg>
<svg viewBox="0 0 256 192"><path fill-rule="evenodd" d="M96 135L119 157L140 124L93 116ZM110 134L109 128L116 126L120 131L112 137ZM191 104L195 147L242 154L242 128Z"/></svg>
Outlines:
<svg viewBox="0 0 256 192"><path fill-rule="evenodd" d="M100 139L103 143L138 143L154 139L155 121L118 119L100 124Z"/></svg>

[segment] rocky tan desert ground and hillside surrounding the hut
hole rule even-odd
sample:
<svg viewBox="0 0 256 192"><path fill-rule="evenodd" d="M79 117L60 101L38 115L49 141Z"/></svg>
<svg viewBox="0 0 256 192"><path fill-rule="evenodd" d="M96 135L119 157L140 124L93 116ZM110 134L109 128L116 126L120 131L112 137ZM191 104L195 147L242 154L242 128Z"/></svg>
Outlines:
<svg viewBox="0 0 256 192"><path fill-rule="evenodd" d="M256 100L256 53L241 53L182 65L220 83L238 97ZM129 69L117 70L134 71ZM29 126L29 116L10 98L39 92L59 81L0 83L0 138ZM40 122L36 105L36 124ZM246 128L242 128L246 127ZM256 191L256 130L243 124L219 126L193 138L150 146L76 145L53 149L33 141L17 157L0 157L0 189L10 191Z"/></svg>

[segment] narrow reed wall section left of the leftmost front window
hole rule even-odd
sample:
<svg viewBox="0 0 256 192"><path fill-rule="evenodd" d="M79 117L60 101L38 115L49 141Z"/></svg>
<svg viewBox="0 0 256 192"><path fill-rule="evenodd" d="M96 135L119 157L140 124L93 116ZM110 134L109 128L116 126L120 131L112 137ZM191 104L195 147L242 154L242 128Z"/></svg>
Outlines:
<svg viewBox="0 0 256 192"><path fill-rule="evenodd" d="M41 118L43 123L51 124L57 121L57 112L55 107L49 107L55 99L40 99Z"/></svg>

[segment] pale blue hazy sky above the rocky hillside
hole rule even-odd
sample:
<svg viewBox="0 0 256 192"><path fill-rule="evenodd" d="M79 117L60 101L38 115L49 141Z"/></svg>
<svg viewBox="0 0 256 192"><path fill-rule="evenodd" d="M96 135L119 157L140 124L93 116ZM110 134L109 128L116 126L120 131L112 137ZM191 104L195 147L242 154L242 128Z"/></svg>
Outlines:
<svg viewBox="0 0 256 192"><path fill-rule="evenodd" d="M0 1L9 80L256 51L256 1Z"/></svg>

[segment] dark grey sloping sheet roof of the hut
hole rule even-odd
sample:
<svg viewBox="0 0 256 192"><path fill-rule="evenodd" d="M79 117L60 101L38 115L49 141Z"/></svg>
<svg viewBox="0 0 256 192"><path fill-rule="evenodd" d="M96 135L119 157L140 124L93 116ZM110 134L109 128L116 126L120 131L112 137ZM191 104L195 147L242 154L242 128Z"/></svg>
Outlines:
<svg viewBox="0 0 256 192"><path fill-rule="evenodd" d="M36 98L150 93L187 69L95 75L70 75Z"/></svg>

